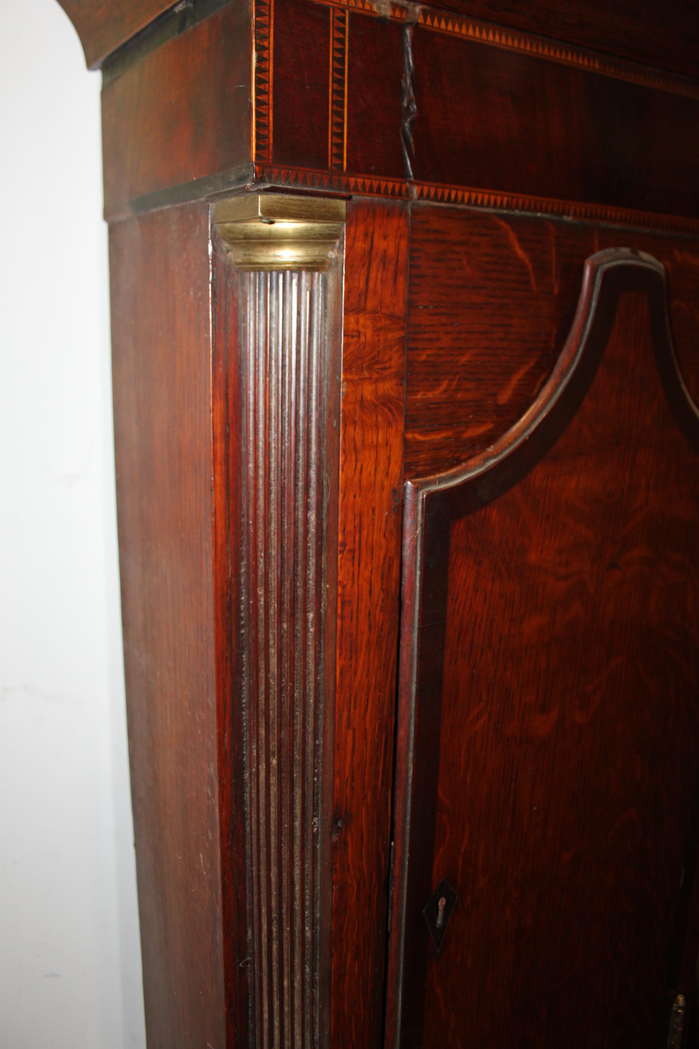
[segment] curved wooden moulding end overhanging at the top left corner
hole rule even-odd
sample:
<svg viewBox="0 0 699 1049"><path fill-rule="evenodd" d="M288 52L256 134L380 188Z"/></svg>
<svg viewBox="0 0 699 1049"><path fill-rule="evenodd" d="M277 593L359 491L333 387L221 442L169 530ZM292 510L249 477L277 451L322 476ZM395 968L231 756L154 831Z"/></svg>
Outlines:
<svg viewBox="0 0 699 1049"><path fill-rule="evenodd" d="M172 0L59 0L59 3L75 26L90 69L173 6Z"/></svg>

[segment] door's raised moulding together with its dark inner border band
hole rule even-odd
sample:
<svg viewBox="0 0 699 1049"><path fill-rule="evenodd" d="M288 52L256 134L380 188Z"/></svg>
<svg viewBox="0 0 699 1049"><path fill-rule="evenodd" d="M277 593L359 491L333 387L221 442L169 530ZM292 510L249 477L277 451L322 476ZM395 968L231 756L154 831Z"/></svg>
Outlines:
<svg viewBox="0 0 699 1049"><path fill-rule="evenodd" d="M435 837L440 762L452 523L505 495L562 437L597 374L625 293L636 293L647 300L664 395L678 428L699 453L699 411L672 345L664 267L650 255L612 249L587 259L577 311L563 352L519 422L463 466L406 485L387 1002L387 1045L392 1049L422 1044L419 1002L424 1000L428 956L422 943L424 930L413 916L421 915L434 889L434 845L430 842ZM648 372L645 382L652 387ZM633 385L633 376L629 376L629 384ZM661 403L659 391L654 395ZM411 842L415 842L412 849Z"/></svg>

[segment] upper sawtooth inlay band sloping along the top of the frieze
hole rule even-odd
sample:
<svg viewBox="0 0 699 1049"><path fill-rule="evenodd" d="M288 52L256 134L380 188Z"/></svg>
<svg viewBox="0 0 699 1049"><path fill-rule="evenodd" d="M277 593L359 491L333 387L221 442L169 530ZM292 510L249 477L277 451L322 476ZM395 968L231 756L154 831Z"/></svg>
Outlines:
<svg viewBox="0 0 699 1049"><path fill-rule="evenodd" d="M389 4L381 0L315 0L326 6L349 8L367 15L387 17ZM444 33L449 36L461 37L477 41L490 47L500 47L508 51L519 51L533 58L547 59L563 65L575 66L589 72L613 77L616 80L630 81L674 94L683 94L690 99L699 99L699 83L685 77L672 73L656 72L634 62L609 58L599 51L584 47L573 47L546 37L518 33L489 22L481 22L460 15L445 14L433 7L418 6L413 3L391 3L390 17L396 21L417 21L428 29Z"/></svg>

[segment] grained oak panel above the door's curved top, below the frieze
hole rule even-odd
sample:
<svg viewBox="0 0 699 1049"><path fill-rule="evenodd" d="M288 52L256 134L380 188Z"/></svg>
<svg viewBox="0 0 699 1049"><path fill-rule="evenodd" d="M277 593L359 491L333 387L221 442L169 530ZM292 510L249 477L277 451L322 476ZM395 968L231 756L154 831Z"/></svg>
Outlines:
<svg viewBox="0 0 699 1049"><path fill-rule="evenodd" d="M451 469L519 419L563 348L585 259L618 243L664 263L677 355L699 402L696 239L413 206L408 477Z"/></svg>

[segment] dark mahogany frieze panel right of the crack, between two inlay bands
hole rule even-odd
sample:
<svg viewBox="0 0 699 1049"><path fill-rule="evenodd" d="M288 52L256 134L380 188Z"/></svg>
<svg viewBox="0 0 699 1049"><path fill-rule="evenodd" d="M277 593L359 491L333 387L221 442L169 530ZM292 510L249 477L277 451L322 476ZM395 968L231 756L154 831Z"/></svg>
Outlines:
<svg viewBox="0 0 699 1049"><path fill-rule="evenodd" d="M418 180L699 216L697 99L422 26L413 53Z"/></svg>

